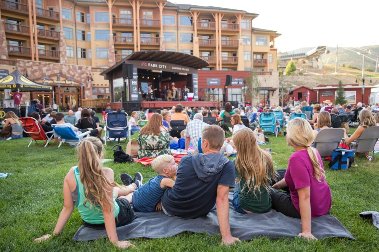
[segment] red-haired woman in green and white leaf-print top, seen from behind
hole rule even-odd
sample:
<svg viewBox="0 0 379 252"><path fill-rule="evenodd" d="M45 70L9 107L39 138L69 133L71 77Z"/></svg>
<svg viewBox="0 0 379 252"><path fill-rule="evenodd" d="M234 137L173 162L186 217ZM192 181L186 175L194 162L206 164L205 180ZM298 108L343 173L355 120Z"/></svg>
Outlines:
<svg viewBox="0 0 379 252"><path fill-rule="evenodd" d="M163 117L154 113L146 125L139 131L138 156L158 157L163 154L171 154L170 132L163 126Z"/></svg>

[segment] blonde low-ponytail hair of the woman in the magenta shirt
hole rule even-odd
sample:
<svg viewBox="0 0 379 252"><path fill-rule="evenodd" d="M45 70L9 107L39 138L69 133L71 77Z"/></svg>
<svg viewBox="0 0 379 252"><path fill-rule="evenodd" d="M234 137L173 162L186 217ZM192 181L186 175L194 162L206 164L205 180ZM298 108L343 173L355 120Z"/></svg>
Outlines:
<svg viewBox="0 0 379 252"><path fill-rule="evenodd" d="M315 138L310 124L304 118L297 117L292 119L288 122L286 138L290 146L303 146L307 148L308 156L313 166L314 177L319 182L321 182L322 177L325 179L326 176L318 161L317 151L310 147Z"/></svg>

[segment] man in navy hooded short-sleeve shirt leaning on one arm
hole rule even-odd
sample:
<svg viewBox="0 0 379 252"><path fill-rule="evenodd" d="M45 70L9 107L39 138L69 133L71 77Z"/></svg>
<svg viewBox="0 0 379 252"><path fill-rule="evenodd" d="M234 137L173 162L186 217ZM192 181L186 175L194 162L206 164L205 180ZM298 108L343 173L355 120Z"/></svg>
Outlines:
<svg viewBox="0 0 379 252"><path fill-rule="evenodd" d="M228 193L234 187L234 164L220 154L224 131L219 126L205 126L201 139L203 153L180 160L175 185L162 196L162 210L168 216L194 219L206 216L216 204L222 244L231 244L239 241L229 225Z"/></svg>

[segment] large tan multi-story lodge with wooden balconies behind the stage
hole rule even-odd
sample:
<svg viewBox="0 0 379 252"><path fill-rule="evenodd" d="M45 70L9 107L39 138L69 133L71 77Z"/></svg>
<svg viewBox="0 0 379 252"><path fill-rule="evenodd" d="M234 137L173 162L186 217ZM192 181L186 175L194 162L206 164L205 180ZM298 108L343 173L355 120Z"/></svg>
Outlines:
<svg viewBox="0 0 379 252"><path fill-rule="evenodd" d="M226 75L244 79L254 68L261 82L260 99L278 104L275 38L280 34L254 28L257 16L158 0L0 0L0 74L18 70L53 86L55 103L66 109L104 106L116 102L108 80L100 75L106 68L134 52L178 52L208 62L198 71L199 100L222 101L227 92L227 100L241 101L243 83L225 89ZM138 70L139 89L150 83L149 71ZM158 77L157 97L163 74ZM209 78L218 80L209 85ZM186 84L177 80L179 88ZM27 92L22 102L38 98L48 106L52 96Z"/></svg>

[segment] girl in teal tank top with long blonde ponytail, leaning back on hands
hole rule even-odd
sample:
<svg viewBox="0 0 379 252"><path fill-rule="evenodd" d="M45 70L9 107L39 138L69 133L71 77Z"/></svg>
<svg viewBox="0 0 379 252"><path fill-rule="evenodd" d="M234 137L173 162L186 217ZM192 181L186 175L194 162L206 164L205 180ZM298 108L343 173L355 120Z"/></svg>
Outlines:
<svg viewBox="0 0 379 252"><path fill-rule="evenodd" d="M76 205L85 226L105 228L109 240L117 247L134 246L128 241L118 240L116 227L124 226L135 218L124 197L134 191L135 186L121 187L114 182L113 170L102 167L102 151L99 138L86 137L79 143L78 166L72 167L64 178L64 206L53 235L61 232ZM50 237L48 234L34 241Z"/></svg>

